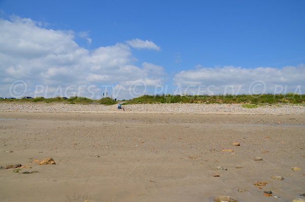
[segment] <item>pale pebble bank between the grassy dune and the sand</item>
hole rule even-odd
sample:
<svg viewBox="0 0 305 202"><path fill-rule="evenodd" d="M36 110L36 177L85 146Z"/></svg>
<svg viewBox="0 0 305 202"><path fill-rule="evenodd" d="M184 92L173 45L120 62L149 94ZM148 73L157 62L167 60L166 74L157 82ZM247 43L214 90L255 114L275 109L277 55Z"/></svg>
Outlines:
<svg viewBox="0 0 305 202"><path fill-rule="evenodd" d="M303 105L267 105L245 108L241 104L134 104L124 105L63 104L63 103L0 103L0 111L58 111L58 112L109 112L109 113L227 113L227 114L305 114Z"/></svg>

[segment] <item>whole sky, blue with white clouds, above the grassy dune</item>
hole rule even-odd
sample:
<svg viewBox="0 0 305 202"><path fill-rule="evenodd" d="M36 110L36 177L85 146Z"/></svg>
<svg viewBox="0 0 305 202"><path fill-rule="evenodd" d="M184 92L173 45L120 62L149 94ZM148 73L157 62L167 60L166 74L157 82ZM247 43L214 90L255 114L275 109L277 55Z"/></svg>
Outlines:
<svg viewBox="0 0 305 202"><path fill-rule="evenodd" d="M0 97L305 92L305 1L0 0Z"/></svg>

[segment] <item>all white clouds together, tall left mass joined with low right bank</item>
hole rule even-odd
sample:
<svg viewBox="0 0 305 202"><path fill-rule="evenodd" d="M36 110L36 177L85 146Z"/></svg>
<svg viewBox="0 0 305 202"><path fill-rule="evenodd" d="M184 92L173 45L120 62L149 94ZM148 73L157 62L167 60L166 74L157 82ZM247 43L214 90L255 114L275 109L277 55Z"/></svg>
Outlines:
<svg viewBox="0 0 305 202"><path fill-rule="evenodd" d="M115 98L129 99L162 93L303 94L305 89L303 64L282 69L200 66L175 73L173 85L165 88L168 74L164 67L149 62L134 65L133 49L161 51L153 41L135 38L89 50L77 44L73 31L51 30L32 19L0 19L0 27L0 97L99 99L109 92ZM81 37L92 43L87 34Z"/></svg>

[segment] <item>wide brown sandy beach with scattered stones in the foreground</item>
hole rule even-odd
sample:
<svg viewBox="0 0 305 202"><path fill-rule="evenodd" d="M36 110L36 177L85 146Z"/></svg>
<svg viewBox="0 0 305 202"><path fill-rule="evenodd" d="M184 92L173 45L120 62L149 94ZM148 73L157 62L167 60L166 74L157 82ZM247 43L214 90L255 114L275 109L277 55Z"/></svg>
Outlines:
<svg viewBox="0 0 305 202"><path fill-rule="evenodd" d="M304 135L302 114L2 111L0 165L39 172L0 170L0 201L292 201L304 198Z"/></svg>

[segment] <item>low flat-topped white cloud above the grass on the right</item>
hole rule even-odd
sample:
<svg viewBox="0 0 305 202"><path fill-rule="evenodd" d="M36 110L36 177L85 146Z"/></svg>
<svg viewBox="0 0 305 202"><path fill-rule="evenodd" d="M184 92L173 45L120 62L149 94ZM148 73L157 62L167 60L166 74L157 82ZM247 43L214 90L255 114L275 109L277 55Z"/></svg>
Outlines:
<svg viewBox="0 0 305 202"><path fill-rule="evenodd" d="M305 91L305 65L281 69L224 66L181 71L174 76L177 94L260 94Z"/></svg>

